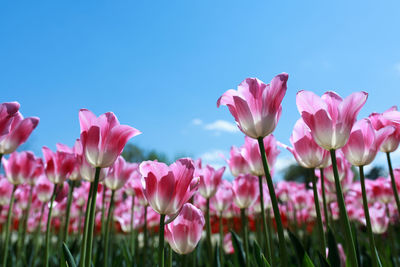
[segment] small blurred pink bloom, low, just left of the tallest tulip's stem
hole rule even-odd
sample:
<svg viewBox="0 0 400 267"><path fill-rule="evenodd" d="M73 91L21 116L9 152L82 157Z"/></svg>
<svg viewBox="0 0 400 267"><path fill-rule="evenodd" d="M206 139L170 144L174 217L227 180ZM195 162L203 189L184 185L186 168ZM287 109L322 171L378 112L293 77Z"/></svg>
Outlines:
<svg viewBox="0 0 400 267"><path fill-rule="evenodd" d="M258 179L247 174L240 175L233 180L233 200L240 209L250 207L258 198Z"/></svg>

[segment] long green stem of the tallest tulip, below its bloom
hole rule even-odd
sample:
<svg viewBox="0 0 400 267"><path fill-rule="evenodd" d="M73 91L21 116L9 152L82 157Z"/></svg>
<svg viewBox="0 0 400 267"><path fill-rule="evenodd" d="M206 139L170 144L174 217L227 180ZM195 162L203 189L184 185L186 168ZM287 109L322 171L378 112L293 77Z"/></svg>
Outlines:
<svg viewBox="0 0 400 267"><path fill-rule="evenodd" d="M282 219L281 219L281 214L280 214L279 207L278 207L278 200L275 195L274 184L272 182L271 174L270 174L269 168L268 168L268 162L267 162L267 156L265 154L263 138L259 137L257 140L258 140L258 145L260 147L261 159L262 159L263 166L264 166L265 177L267 179L267 185L268 185L269 195L271 198L272 209L274 211L276 226L278 228L279 254L280 254L281 261L282 261L282 266L286 267L288 265L287 264L288 259L287 259L287 252L286 252L285 235L283 233Z"/></svg>

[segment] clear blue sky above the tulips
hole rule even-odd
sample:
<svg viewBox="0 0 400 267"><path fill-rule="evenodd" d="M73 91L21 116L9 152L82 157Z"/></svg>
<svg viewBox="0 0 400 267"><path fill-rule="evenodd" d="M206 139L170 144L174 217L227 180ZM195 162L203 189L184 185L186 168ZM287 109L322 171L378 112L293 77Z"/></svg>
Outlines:
<svg viewBox="0 0 400 267"><path fill-rule="evenodd" d="M2 2L0 101L41 118L27 146L37 153L72 145L88 108L141 130L132 142L143 148L221 164L243 135L216 101L246 77L289 73L281 142L300 89L367 91L360 117L397 105L398 10L398 1Z"/></svg>

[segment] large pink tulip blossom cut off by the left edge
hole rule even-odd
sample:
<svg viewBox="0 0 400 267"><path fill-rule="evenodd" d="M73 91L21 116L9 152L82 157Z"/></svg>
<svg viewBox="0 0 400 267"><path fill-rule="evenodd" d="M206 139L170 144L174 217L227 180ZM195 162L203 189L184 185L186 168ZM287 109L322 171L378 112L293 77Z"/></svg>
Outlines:
<svg viewBox="0 0 400 267"><path fill-rule="evenodd" d="M25 118L18 112L19 103L0 104L0 154L10 154L24 143L39 123L39 118Z"/></svg>

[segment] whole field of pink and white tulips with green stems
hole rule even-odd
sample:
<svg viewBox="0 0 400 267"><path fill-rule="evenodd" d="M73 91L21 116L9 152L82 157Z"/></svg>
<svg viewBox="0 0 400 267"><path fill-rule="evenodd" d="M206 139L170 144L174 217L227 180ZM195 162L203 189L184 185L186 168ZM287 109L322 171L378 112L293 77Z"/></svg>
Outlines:
<svg viewBox="0 0 400 267"><path fill-rule="evenodd" d="M87 109L73 147L35 155L18 148L39 118L0 104L0 266L400 266L400 112L357 118L366 92L299 91L290 140L277 140L288 79L221 91L244 134L221 168L128 162L125 145L146 133ZM280 150L306 182L274 177ZM367 179L378 153L388 176Z"/></svg>

